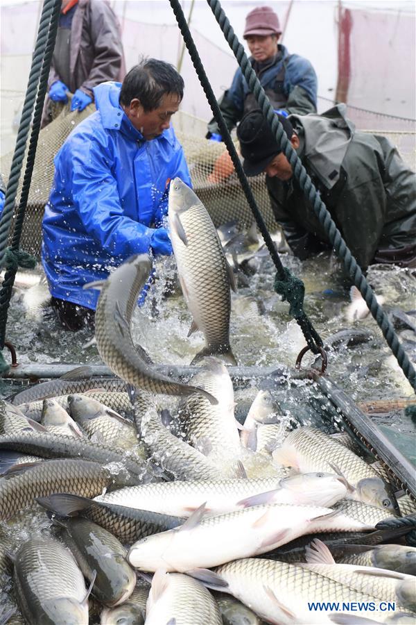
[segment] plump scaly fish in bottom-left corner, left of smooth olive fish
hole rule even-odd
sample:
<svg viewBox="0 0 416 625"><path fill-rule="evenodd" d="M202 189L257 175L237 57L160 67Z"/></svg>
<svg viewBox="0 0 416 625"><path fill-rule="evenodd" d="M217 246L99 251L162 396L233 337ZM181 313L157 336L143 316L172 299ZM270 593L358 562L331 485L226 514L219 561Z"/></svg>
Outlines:
<svg viewBox="0 0 416 625"><path fill-rule="evenodd" d="M15 559L15 587L26 622L88 624L83 574L58 540L32 538L21 545Z"/></svg>

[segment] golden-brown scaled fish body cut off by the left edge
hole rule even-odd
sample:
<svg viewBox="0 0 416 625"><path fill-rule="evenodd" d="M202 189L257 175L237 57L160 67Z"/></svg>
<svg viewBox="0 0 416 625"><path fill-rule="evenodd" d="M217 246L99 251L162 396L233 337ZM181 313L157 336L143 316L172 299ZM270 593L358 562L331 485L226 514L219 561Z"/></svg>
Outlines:
<svg viewBox="0 0 416 625"><path fill-rule="evenodd" d="M35 497L69 492L95 497L111 482L108 469L87 460L49 460L21 474L0 478L0 519L33 506Z"/></svg>

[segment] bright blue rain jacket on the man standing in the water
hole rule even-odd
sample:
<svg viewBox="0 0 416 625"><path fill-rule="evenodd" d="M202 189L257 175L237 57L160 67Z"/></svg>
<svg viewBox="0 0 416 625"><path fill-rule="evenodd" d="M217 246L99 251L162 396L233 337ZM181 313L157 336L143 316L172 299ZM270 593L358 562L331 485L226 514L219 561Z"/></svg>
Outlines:
<svg viewBox="0 0 416 625"><path fill-rule="evenodd" d="M168 210L168 181L191 186L173 128L146 141L119 105L121 83L94 88L97 111L55 156L43 219L42 263L54 297L96 308L104 280L129 256L149 251Z"/></svg>

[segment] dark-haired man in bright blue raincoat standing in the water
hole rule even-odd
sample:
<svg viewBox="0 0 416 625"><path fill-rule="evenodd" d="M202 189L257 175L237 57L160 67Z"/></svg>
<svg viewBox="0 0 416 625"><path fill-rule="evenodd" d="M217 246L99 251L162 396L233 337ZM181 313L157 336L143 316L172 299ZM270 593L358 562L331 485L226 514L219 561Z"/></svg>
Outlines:
<svg viewBox="0 0 416 625"><path fill-rule="evenodd" d="M136 253L172 253L163 227L168 184L191 185L171 128L184 82L160 60L133 67L123 84L94 88L97 111L69 135L55 157L43 219L42 263L52 306L76 331L94 319L98 299L87 283L104 280Z"/></svg>

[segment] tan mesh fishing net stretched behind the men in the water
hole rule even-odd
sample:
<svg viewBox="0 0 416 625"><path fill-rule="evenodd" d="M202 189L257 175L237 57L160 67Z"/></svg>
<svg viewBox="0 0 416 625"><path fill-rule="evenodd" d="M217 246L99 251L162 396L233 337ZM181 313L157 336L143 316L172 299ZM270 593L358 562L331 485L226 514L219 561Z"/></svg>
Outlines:
<svg viewBox="0 0 416 625"><path fill-rule="evenodd" d="M55 114L53 122L40 131L31 190L20 240L21 249L28 251L37 258L40 258L44 206L53 183L53 158L73 128L94 110L94 105L90 105L82 113L78 113L78 111L71 113L69 103L63 107L60 105L53 112ZM236 222L242 229L250 228L254 218L236 174L232 173L226 178L224 177L227 174L227 160L220 159L220 156L225 153L224 144L205 139L206 122L188 113L177 113L173 125L177 138L184 148L193 188L207 207L214 225L218 227L228 222ZM376 133L377 131L373 132ZM404 150L401 151L401 156L410 167L414 167L414 133L413 137L412 133L399 133L397 131L382 131L379 134L387 136L390 141L397 144L399 151L402 145ZM10 152L0 158L0 174L5 183L8 181L12 156L13 154ZM268 199L264 175L250 178L250 185L268 230L275 231L277 224ZM21 186L17 192L17 202L20 192Z"/></svg>

